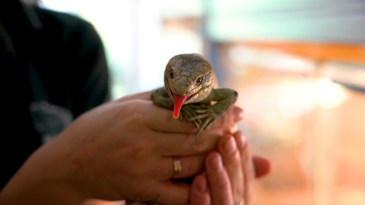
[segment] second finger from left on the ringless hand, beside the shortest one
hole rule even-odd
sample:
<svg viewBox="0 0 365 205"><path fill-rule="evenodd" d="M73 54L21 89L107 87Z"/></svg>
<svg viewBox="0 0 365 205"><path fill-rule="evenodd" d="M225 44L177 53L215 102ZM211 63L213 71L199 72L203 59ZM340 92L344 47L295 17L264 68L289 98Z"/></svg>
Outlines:
<svg viewBox="0 0 365 205"><path fill-rule="evenodd" d="M212 205L234 204L231 182L218 152L213 151L207 155L205 169Z"/></svg>

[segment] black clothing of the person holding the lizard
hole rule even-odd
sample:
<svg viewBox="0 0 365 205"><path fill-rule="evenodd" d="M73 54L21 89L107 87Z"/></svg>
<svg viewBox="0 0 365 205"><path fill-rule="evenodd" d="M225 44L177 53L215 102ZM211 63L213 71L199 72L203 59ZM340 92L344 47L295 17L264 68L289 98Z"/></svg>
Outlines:
<svg viewBox="0 0 365 205"><path fill-rule="evenodd" d="M109 98L102 42L75 16L0 1L0 190L73 118Z"/></svg>

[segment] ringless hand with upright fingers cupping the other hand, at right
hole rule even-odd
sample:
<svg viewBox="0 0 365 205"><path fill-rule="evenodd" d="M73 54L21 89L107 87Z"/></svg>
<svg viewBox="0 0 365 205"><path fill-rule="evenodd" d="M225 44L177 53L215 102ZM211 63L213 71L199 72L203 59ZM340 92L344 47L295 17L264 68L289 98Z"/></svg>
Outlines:
<svg viewBox="0 0 365 205"><path fill-rule="evenodd" d="M251 157L240 131L221 137L217 147L218 152L209 153L205 159L206 174L197 175L192 183L190 205L249 205L253 176L268 174L269 161Z"/></svg>

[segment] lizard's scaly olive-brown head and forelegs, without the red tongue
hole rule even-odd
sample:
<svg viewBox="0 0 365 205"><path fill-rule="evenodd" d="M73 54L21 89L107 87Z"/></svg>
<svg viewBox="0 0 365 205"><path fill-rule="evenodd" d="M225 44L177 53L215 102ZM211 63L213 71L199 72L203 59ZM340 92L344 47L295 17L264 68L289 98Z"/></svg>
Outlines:
<svg viewBox="0 0 365 205"><path fill-rule="evenodd" d="M199 80L201 79L201 80ZM199 54L180 54L172 57L165 69L165 88L151 94L153 102L161 107L174 109L173 93L190 96L181 107L184 116L198 128L196 135L208 129L237 100L237 92L218 89L218 81L210 63ZM211 102L215 101L214 105Z"/></svg>

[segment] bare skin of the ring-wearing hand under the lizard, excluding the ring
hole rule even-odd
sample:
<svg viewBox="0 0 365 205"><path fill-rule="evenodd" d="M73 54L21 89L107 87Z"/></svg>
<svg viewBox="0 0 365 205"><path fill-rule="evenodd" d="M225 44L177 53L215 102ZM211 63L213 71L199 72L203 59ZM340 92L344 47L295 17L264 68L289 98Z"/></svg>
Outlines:
<svg viewBox="0 0 365 205"><path fill-rule="evenodd" d="M191 123L172 119L172 111L154 105L149 96L126 96L81 115L23 164L1 191L0 203L154 201L159 194L161 204L187 203L190 186L170 181L172 156L181 156L181 177L197 174L204 153L237 129L242 110L227 111L197 138Z"/></svg>

